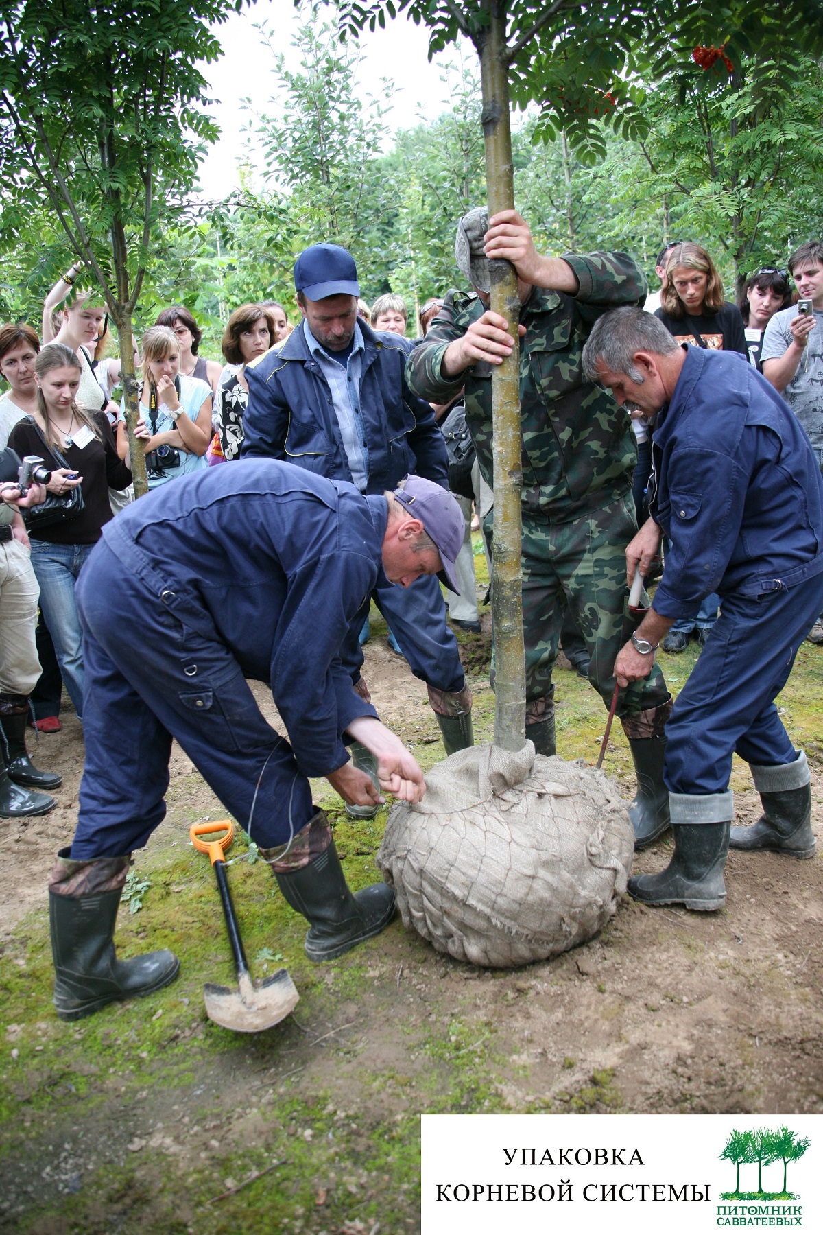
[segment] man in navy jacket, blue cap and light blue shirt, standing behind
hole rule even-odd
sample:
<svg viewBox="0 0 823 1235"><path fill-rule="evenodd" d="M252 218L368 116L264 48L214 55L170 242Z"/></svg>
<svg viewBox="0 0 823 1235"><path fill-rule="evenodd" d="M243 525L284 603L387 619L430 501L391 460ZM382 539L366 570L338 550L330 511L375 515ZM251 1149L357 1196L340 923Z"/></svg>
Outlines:
<svg viewBox="0 0 823 1235"><path fill-rule="evenodd" d="M246 369L243 458L285 459L368 494L394 489L412 473L448 489L443 435L429 404L406 385L412 343L358 321L360 285L350 253L312 245L295 262L295 288L301 325ZM447 755L471 746L471 692L437 579L421 578L406 592L379 582L364 595L341 658L366 699L358 636L371 597L412 673L428 687ZM369 766L362 748L353 755Z"/></svg>

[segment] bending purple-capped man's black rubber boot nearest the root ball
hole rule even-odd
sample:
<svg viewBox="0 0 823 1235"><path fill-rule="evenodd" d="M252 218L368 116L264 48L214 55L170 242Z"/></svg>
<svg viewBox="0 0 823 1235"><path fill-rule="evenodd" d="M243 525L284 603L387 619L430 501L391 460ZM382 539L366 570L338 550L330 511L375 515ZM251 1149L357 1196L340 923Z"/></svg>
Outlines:
<svg viewBox="0 0 823 1235"><path fill-rule="evenodd" d="M275 879L291 908L311 924L306 935L310 961L333 961L379 935L395 914L395 894L387 883L352 894L333 841L308 866L275 873Z"/></svg>

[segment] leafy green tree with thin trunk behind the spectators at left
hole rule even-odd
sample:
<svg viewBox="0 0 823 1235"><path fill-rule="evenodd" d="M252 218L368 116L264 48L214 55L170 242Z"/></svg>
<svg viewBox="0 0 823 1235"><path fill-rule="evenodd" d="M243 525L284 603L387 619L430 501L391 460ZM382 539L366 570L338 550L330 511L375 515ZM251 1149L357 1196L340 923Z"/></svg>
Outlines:
<svg viewBox="0 0 823 1235"><path fill-rule="evenodd" d="M31 243L32 210L63 236L51 274L88 263L117 327L137 492L132 314L163 222L181 220L205 143L211 26L242 0L4 0L0 6L0 238Z"/></svg>

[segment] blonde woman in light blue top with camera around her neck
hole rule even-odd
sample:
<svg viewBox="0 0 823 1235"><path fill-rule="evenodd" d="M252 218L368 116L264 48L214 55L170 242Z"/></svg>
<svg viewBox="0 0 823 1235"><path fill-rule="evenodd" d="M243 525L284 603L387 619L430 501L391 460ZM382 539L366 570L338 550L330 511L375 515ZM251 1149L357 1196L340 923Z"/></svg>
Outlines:
<svg viewBox="0 0 823 1235"><path fill-rule="evenodd" d="M211 387L180 373L180 346L169 326L143 335L141 419L134 436L146 450L148 487L207 467L211 441Z"/></svg>

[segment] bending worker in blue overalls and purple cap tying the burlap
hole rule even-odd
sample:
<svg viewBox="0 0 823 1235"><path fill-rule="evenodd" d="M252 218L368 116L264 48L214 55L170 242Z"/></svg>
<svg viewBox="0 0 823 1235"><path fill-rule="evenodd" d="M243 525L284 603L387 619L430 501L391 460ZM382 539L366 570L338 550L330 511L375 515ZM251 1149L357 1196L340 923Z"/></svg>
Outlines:
<svg viewBox="0 0 823 1235"><path fill-rule="evenodd" d="M460 508L431 480L363 496L271 459L175 480L106 525L77 587L86 756L77 832L49 883L63 1019L178 972L168 951L121 962L114 948L131 851L165 815L173 737L308 920L310 960L387 925L391 888L350 893L308 777L360 805L381 802L380 788L422 797L417 762L354 690L339 648L379 580L442 572L454 588L461 543ZM246 678L270 683L289 741ZM344 736L373 752L380 788Z"/></svg>

